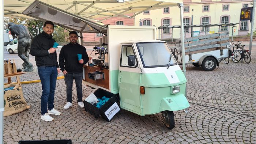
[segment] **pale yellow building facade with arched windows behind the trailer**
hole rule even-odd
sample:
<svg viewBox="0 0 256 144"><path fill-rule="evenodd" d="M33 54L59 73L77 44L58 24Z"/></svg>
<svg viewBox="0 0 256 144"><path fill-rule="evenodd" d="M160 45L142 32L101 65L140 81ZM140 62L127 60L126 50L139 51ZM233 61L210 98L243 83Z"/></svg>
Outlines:
<svg viewBox="0 0 256 144"><path fill-rule="evenodd" d="M218 23L240 23L234 26L233 35L247 35L251 31L249 20L240 21L241 8L252 7L252 0L184 0L183 22L184 25L191 24L218 24ZM193 21L192 21L193 17ZM135 26L175 26L180 25L180 9L178 7L167 7L159 10L145 11L135 17ZM256 25L254 25L256 28ZM221 27L194 27L193 31L205 33L232 32L232 26ZM184 29L185 37L191 37L191 28ZM160 30L157 37L161 39L179 38L180 29Z"/></svg>

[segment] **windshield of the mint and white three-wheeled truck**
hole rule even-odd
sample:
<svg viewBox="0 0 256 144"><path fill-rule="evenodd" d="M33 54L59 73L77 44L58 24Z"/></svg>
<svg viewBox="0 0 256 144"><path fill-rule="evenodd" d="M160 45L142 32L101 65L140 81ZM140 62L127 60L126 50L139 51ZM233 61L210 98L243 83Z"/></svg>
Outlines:
<svg viewBox="0 0 256 144"><path fill-rule="evenodd" d="M136 45L144 68L167 67L177 64L165 42L141 42Z"/></svg>

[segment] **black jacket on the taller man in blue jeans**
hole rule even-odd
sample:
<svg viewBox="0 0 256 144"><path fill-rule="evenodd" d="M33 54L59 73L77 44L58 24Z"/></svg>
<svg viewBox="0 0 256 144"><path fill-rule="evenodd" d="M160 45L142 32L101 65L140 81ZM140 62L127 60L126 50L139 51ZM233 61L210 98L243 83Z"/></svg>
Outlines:
<svg viewBox="0 0 256 144"><path fill-rule="evenodd" d="M33 38L30 46L30 54L35 56L37 67L56 66L59 68L56 51L54 53L48 53L48 50L52 48L53 43L54 39L52 39L52 35L48 35L44 31Z"/></svg>

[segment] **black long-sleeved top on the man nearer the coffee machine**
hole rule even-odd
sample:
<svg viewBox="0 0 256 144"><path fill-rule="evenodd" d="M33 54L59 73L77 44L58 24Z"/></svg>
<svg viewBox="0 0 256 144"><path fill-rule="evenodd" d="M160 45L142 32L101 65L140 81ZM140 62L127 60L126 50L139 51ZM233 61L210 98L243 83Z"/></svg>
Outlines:
<svg viewBox="0 0 256 144"><path fill-rule="evenodd" d="M83 64L78 62L77 54L82 54ZM79 45L78 43L72 44L68 43L64 45L60 50L59 64L60 70L67 71L68 73L81 73L83 72L83 65L86 64L89 60L88 54L84 46Z"/></svg>

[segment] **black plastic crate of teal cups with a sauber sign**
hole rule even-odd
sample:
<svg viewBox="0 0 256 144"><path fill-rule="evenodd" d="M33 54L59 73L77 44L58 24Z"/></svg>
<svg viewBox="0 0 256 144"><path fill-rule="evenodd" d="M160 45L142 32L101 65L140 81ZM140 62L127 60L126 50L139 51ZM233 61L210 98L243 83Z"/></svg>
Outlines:
<svg viewBox="0 0 256 144"><path fill-rule="evenodd" d="M101 115L102 118L104 118L106 121L109 122L110 120L108 120L108 117L104 113L106 110L109 109L110 106L112 106L115 102L118 101L117 95L109 91L105 91L101 88L96 90L94 92L94 95L97 98L102 98L103 96L106 96L107 98L110 98L110 99L99 109L98 107L91 105L89 102L83 101L85 111L89 112L91 115L94 115L95 118L98 118Z"/></svg>

